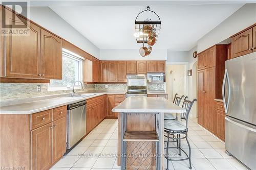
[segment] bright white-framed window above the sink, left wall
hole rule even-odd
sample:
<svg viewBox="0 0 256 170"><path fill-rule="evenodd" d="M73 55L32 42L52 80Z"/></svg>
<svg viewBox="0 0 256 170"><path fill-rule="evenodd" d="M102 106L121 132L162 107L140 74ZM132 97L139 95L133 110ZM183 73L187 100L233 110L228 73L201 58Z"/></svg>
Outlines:
<svg viewBox="0 0 256 170"><path fill-rule="evenodd" d="M62 48L62 80L50 80L49 91L72 89L75 81L82 82L83 60L83 57ZM80 87L79 84L76 86Z"/></svg>

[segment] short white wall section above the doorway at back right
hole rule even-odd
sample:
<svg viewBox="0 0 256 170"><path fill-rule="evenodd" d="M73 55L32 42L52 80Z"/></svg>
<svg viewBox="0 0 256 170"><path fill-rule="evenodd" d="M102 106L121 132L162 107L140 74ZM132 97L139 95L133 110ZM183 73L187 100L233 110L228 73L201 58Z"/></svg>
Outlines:
<svg viewBox="0 0 256 170"><path fill-rule="evenodd" d="M187 52L167 51L167 62L188 62Z"/></svg>

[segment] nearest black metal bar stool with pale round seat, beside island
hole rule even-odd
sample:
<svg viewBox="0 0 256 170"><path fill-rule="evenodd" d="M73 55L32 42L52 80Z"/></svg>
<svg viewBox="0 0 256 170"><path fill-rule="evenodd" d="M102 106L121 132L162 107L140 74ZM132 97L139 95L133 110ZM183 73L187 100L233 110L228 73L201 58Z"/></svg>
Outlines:
<svg viewBox="0 0 256 170"><path fill-rule="evenodd" d="M193 106L194 102L197 101L197 99L194 99L193 101L188 101L185 98L182 108L185 109L185 113L181 114L181 120L164 120L164 132L165 137L168 138L167 140L167 146L166 146L166 160L167 160L167 170L169 169L169 160L170 161L183 161L183 160L189 160L189 169L192 169L191 167L191 148L190 144L187 140L187 132L188 132L188 115L190 113L191 107ZM182 120L185 120L185 123L182 122ZM182 136L181 136L182 135ZM177 140L177 147L169 147L170 139ZM189 154L187 154L183 149L181 149L181 139L186 139L188 148L189 148ZM179 141L179 142L178 142ZM179 149L179 155L181 155L181 151L185 153L187 158L184 159L170 159L168 155L168 149L169 148L176 148Z"/></svg>

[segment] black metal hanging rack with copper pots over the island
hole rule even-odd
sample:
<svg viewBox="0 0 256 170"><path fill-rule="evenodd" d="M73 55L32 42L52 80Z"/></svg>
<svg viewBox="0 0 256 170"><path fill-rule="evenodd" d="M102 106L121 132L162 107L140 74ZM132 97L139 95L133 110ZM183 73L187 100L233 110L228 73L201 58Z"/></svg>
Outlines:
<svg viewBox="0 0 256 170"><path fill-rule="evenodd" d="M156 21L152 21L151 18L144 18L142 21L137 20L138 16L143 12L150 12L150 16L157 16ZM150 7L146 7L146 10L141 11L135 19L135 33L137 43L142 43L142 47L139 52L142 57L149 55L152 51L152 46L156 43L159 31L161 29L160 17L154 11L150 10ZM147 47L145 46L147 45Z"/></svg>

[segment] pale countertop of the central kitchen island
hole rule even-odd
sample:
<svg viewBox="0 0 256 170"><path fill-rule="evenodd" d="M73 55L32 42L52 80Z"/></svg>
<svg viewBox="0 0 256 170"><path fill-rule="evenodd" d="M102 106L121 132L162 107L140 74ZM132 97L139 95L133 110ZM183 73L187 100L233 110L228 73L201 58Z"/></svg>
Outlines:
<svg viewBox="0 0 256 170"><path fill-rule="evenodd" d="M184 113L185 109L164 98L131 97L112 109L126 113Z"/></svg>

